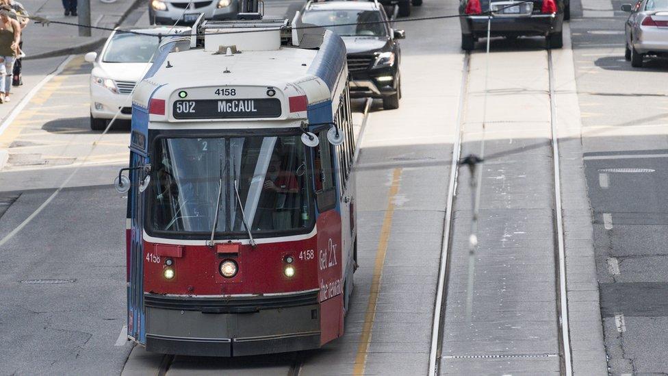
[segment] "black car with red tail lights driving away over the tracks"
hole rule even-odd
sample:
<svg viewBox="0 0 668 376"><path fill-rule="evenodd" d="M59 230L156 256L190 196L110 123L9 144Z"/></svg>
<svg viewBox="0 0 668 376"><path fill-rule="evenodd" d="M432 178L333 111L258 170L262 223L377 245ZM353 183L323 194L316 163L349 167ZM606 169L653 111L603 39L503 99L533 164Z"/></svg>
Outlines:
<svg viewBox="0 0 668 376"><path fill-rule="evenodd" d="M565 0L491 1L461 0L461 48L470 51L478 38L487 38L487 13L491 10L491 36L545 36L548 48L563 47Z"/></svg>

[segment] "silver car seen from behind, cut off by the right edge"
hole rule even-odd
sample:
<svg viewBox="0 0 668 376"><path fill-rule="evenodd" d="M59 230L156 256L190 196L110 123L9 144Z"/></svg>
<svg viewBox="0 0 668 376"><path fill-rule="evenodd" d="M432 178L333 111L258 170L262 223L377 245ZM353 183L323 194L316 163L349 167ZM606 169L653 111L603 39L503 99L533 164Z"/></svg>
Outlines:
<svg viewBox="0 0 668 376"><path fill-rule="evenodd" d="M631 66L643 66L645 55L668 56L668 0L639 0L622 4L630 12L626 20L625 58Z"/></svg>

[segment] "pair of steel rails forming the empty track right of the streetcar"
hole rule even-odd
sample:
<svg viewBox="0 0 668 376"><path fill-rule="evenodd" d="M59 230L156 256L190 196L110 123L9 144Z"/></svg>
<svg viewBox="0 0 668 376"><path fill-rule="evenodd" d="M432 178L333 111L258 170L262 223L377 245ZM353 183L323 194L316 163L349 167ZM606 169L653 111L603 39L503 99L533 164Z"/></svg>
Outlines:
<svg viewBox="0 0 668 376"><path fill-rule="evenodd" d="M561 203L561 176L558 149L558 131L556 123L556 101L554 89L554 66L552 62L552 51L547 50L548 60L548 96L550 99L550 147L552 149L552 175L554 181L554 238L555 238L555 290L556 290L556 315L558 325L558 354L560 358L561 374L571 376L571 347L569 340L568 302L566 293L566 268L565 268L565 246L563 230L563 208ZM446 216L444 218L444 236L441 246L441 260L439 264L439 279L437 285L437 296L434 305L434 319L432 325L431 349L429 357L428 375L438 375L441 367L441 353L443 342L443 331L445 324L446 297L448 294L448 279L450 277L450 253L452 252L452 205L454 204L455 191L457 190L458 166L457 162L461 153L461 136L463 110L467 96L467 79L470 69L470 53L465 54L462 82L460 88L459 109L457 112L457 124L455 130L455 142L452 149L452 165L450 171L450 184L448 186L448 197L446 201ZM484 125L483 125L484 126ZM480 183L480 182L479 182ZM451 357L448 357L451 358Z"/></svg>

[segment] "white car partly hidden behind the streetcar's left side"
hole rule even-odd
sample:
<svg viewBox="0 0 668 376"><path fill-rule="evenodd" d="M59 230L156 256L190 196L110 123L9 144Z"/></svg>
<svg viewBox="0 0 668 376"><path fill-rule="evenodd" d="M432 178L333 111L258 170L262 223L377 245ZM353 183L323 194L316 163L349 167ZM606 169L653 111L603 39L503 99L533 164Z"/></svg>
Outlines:
<svg viewBox="0 0 668 376"><path fill-rule="evenodd" d="M151 58L154 53L157 54L160 43L159 36L184 32L189 33L190 27L116 29L99 55L97 52L86 53L84 59L93 63L90 73L90 129L105 129L119 109L117 119L131 118L129 95L151 66Z"/></svg>

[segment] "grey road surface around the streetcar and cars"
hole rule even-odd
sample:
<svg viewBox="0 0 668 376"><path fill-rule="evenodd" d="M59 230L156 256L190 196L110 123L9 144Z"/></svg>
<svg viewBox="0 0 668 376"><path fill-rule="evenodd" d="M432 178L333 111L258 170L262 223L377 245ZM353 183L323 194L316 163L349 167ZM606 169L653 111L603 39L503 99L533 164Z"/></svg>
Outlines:
<svg viewBox="0 0 668 376"><path fill-rule="evenodd" d="M567 134L561 193L575 370L603 375L609 366L614 375L668 373L668 208L662 200L668 90L661 84L668 63L631 68L619 33L624 15L613 11L620 2L589 1L574 2L572 51L567 44L554 54L556 111ZM292 16L299 4L268 0L266 13ZM413 16L452 14L456 8L452 1L426 0L413 8ZM296 359L303 375L427 373L461 95L463 153L480 150L484 113L489 160L482 180L472 322L465 312L471 192L461 171L441 372L559 371L543 42L493 40L489 57L478 44L467 91L460 92L466 73L459 21L397 27L407 32L403 97L398 110L374 105L361 144L360 268L346 335L300 354L177 357L169 375L280 374L293 369ZM31 63L35 73L27 85L60 62ZM493 78L487 82L492 95L485 110L487 64ZM90 65L75 56L0 135L0 147L8 151L0 170L0 239L53 197L0 245L0 375L135 375L155 373L162 361L119 336L125 325L125 197L110 183L127 164L128 135L118 129L100 138L88 129L89 71ZM363 103L356 108L359 129ZM377 296L370 293L376 287Z"/></svg>

